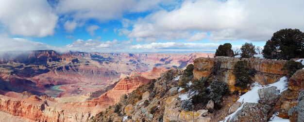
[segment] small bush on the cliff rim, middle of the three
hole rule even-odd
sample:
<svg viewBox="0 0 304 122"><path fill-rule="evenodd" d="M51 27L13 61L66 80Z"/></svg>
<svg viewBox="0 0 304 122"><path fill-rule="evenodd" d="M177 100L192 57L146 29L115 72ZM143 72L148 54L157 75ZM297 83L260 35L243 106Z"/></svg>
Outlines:
<svg viewBox="0 0 304 122"><path fill-rule="evenodd" d="M256 54L255 52L255 46L252 43L245 43L242 45L241 47L241 57L247 58L247 57L253 57L254 54Z"/></svg>

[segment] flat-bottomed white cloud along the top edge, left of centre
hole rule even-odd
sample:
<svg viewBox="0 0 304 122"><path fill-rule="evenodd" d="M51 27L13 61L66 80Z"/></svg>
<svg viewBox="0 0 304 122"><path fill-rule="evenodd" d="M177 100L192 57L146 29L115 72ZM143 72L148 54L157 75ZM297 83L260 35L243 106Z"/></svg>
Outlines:
<svg viewBox="0 0 304 122"><path fill-rule="evenodd" d="M125 13L160 9L161 5L175 4L174 0L60 0L56 11L75 20L121 19Z"/></svg>

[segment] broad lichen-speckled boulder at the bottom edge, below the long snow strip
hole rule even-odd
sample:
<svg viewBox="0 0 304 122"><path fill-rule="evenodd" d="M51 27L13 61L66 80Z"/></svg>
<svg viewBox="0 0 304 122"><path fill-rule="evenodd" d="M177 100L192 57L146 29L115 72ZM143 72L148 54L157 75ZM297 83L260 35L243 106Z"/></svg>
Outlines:
<svg viewBox="0 0 304 122"><path fill-rule="evenodd" d="M245 103L243 108L236 112L230 122L267 122L269 110L269 105Z"/></svg>

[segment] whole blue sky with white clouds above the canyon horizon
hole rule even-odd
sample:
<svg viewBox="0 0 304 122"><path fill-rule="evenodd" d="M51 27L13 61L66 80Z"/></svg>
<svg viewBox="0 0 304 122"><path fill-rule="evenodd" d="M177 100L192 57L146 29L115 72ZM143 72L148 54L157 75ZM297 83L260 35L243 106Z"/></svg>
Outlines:
<svg viewBox="0 0 304 122"><path fill-rule="evenodd" d="M0 0L0 51L215 52L304 31L304 0Z"/></svg>

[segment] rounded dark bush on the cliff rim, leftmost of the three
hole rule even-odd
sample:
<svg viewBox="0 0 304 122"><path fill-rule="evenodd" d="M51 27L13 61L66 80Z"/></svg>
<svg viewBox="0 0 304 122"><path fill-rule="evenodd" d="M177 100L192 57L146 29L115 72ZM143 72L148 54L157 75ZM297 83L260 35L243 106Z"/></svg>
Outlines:
<svg viewBox="0 0 304 122"><path fill-rule="evenodd" d="M224 43L223 45L220 45L217 51L215 52L215 56L228 56L228 57L234 56L231 47L232 45L230 43Z"/></svg>

